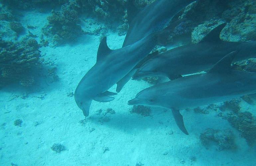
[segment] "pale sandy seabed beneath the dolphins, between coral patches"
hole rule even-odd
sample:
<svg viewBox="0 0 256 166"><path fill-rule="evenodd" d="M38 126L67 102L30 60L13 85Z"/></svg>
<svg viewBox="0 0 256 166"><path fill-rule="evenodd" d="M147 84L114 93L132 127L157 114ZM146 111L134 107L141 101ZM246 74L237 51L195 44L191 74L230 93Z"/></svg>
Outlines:
<svg viewBox="0 0 256 166"><path fill-rule="evenodd" d="M46 14L28 12L23 24L42 27L46 17ZM41 19L35 21L35 18ZM33 33L41 33L37 31ZM111 49L120 48L123 40L124 36L111 32L107 37ZM83 75L94 65L99 37L86 35L78 41L73 45L40 48L42 58L57 65L59 81L49 83L42 78L33 91L20 87L1 90L1 166L255 165L255 148L249 147L245 139L214 112L204 115L182 110L190 135L180 131L171 111L151 108L148 117L131 114L132 106L127 105L127 101L150 86L145 81L130 80L111 102L93 101L90 116L86 122L79 123L84 119L82 111L67 93L74 92ZM115 92L115 87L109 91ZM26 92L28 97L22 99L20 95ZM106 113L108 108L115 114ZM252 109L243 104L242 110ZM23 121L21 127L14 125L16 119ZM206 149L199 140L206 128L231 129L237 149L217 151L214 146ZM63 144L66 150L56 153L51 149L54 143Z"/></svg>

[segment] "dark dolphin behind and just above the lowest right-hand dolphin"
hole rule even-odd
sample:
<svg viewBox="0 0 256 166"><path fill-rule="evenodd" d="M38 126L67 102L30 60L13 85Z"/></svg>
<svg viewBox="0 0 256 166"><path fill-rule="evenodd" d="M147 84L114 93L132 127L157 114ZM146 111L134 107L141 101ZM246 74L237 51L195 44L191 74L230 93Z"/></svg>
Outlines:
<svg viewBox="0 0 256 166"><path fill-rule="evenodd" d="M174 79L177 75L209 70L224 55L233 50L239 51L234 61L256 57L256 41L220 40L219 35L225 25L217 26L196 44L180 46L147 60L132 79L151 76L167 76Z"/></svg>

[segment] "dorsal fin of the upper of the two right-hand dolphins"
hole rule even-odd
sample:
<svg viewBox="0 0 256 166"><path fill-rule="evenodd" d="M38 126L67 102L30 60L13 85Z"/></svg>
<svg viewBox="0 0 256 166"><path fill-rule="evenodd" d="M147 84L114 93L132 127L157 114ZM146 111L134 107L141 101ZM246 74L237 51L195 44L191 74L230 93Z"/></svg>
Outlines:
<svg viewBox="0 0 256 166"><path fill-rule="evenodd" d="M223 23L215 27L211 32L209 32L200 42L219 42L221 41L219 38L220 32L226 26L227 23Z"/></svg>

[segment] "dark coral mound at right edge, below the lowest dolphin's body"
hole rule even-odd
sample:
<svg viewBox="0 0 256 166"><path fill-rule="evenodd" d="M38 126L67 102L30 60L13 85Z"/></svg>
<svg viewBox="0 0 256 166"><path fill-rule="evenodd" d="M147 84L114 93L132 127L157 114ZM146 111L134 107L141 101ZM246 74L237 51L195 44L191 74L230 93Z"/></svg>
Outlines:
<svg viewBox="0 0 256 166"><path fill-rule="evenodd" d="M250 112L231 114L227 120L241 132L241 136L246 139L249 146L256 144L256 117L252 116Z"/></svg>

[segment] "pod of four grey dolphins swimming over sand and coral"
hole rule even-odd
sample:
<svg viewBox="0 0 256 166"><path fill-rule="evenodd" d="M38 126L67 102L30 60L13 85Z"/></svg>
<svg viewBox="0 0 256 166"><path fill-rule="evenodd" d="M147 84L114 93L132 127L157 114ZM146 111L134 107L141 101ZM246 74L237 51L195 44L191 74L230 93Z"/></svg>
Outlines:
<svg viewBox="0 0 256 166"><path fill-rule="evenodd" d="M98 47L95 65L75 89L75 102L85 117L89 115L92 100L114 100L112 96L117 93L108 89L117 84L116 91L119 92L132 75L133 79L145 76L173 79L142 90L128 104L170 109L185 134L189 133L181 109L256 93L256 73L231 70L232 61L255 56L256 42L220 40L219 34L226 24L218 25L196 44L162 54L149 54L164 36L167 25L172 25L169 22L175 14L194 1L156 0L142 10L137 10L131 0L127 1L129 30L122 48L111 50L104 37ZM177 78L205 70L208 71L206 74Z"/></svg>

